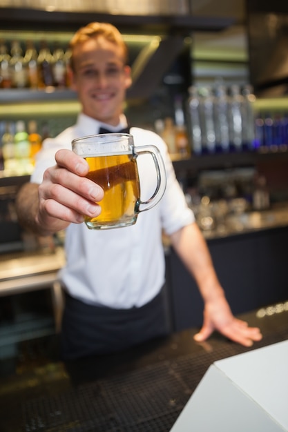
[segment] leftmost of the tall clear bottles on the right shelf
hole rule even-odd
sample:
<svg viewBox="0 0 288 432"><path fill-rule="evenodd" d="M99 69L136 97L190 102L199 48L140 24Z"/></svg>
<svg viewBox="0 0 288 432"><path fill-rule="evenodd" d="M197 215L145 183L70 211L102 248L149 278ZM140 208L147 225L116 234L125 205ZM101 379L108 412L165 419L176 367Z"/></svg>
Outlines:
<svg viewBox="0 0 288 432"><path fill-rule="evenodd" d="M202 130L200 124L200 99L195 86L189 88L189 129L192 141L192 150L195 155L202 153Z"/></svg>

